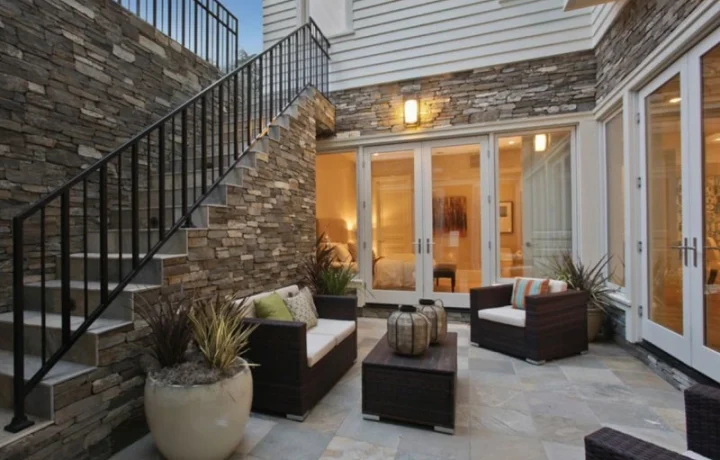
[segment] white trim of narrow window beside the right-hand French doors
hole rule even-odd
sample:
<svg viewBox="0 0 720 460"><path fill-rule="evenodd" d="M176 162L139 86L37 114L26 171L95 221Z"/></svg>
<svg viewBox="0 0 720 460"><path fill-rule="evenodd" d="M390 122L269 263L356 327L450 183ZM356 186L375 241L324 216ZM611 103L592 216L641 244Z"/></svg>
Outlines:
<svg viewBox="0 0 720 460"><path fill-rule="evenodd" d="M625 126L625 110L624 109L625 108L622 105L617 106L615 108L615 110L609 112L601 120L598 120L598 123L600 125L600 127L599 127L600 156L602 158L602 165L603 165L602 166L602 190L603 190L603 193L602 193L602 210L603 210L603 218L602 218L602 220L603 220L603 232L602 232L603 245L602 245L602 248L603 248L603 253L605 255L608 255L608 253L610 251L609 244L608 244L609 243L608 237L609 237L609 233L610 233L610 229L609 229L610 222L608 219L608 211L609 211L609 207L608 207L608 166L607 166L608 165L608 162L607 162L608 152L607 152L607 142L606 142L607 125L610 122L610 120L612 120L613 118L615 118L618 115L621 115L622 116L623 139L626 139L627 127ZM623 188L625 189L624 193L623 193L623 197L625 200L625 202L623 203L623 214L624 214L624 216L623 216L624 217L623 232L625 235L625 246L623 248L623 265L624 265L624 272L625 272L625 283L624 283L625 286L620 286L620 285L612 283L612 282L608 282L608 285L614 289L617 289L617 292L611 296L613 298L613 300L615 300L616 302L621 303L621 304L630 305L631 302L630 302L630 295L629 295L629 287L630 287L632 280L630 280L629 275L628 275L629 274L628 267L630 266L630 263L629 263L630 257L632 257L632 251L630 249L630 247L632 246L632 244L630 243L631 237L632 237L632 233L631 233L632 222L630 222L630 220L629 220L629 217L630 217L630 200L629 200L630 187L629 187L629 183L631 180L630 179L631 174L630 174L630 168L628 167L628 155L627 155L627 149L625 148L625 141L623 141L623 166L625 167L625 178L624 178L625 181L623 183ZM609 270L609 266L608 266L608 270ZM606 271L605 274L607 276L609 276L610 272Z"/></svg>

